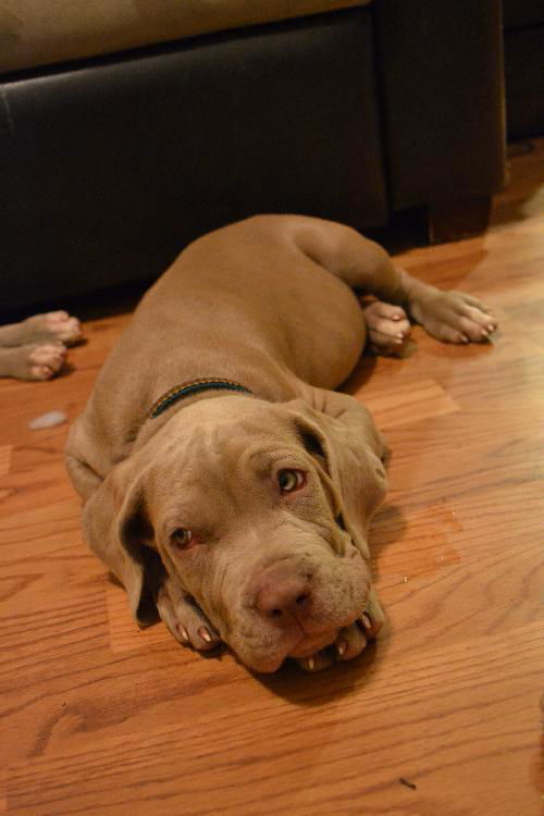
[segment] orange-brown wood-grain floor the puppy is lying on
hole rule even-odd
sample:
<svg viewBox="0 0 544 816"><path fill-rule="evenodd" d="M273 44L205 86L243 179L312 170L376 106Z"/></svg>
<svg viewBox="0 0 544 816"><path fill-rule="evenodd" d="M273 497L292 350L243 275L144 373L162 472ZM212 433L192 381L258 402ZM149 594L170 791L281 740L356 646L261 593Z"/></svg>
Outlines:
<svg viewBox="0 0 544 816"><path fill-rule="evenodd" d="M0 812L540 813L543 169L541 141L511 161L486 235L401 256L489 302L493 343L416 330L417 354L349 385L394 452L371 537L388 622L353 664L258 678L133 623L82 541L66 425L27 426L81 411L127 316L88 322L67 375L1 382Z"/></svg>

